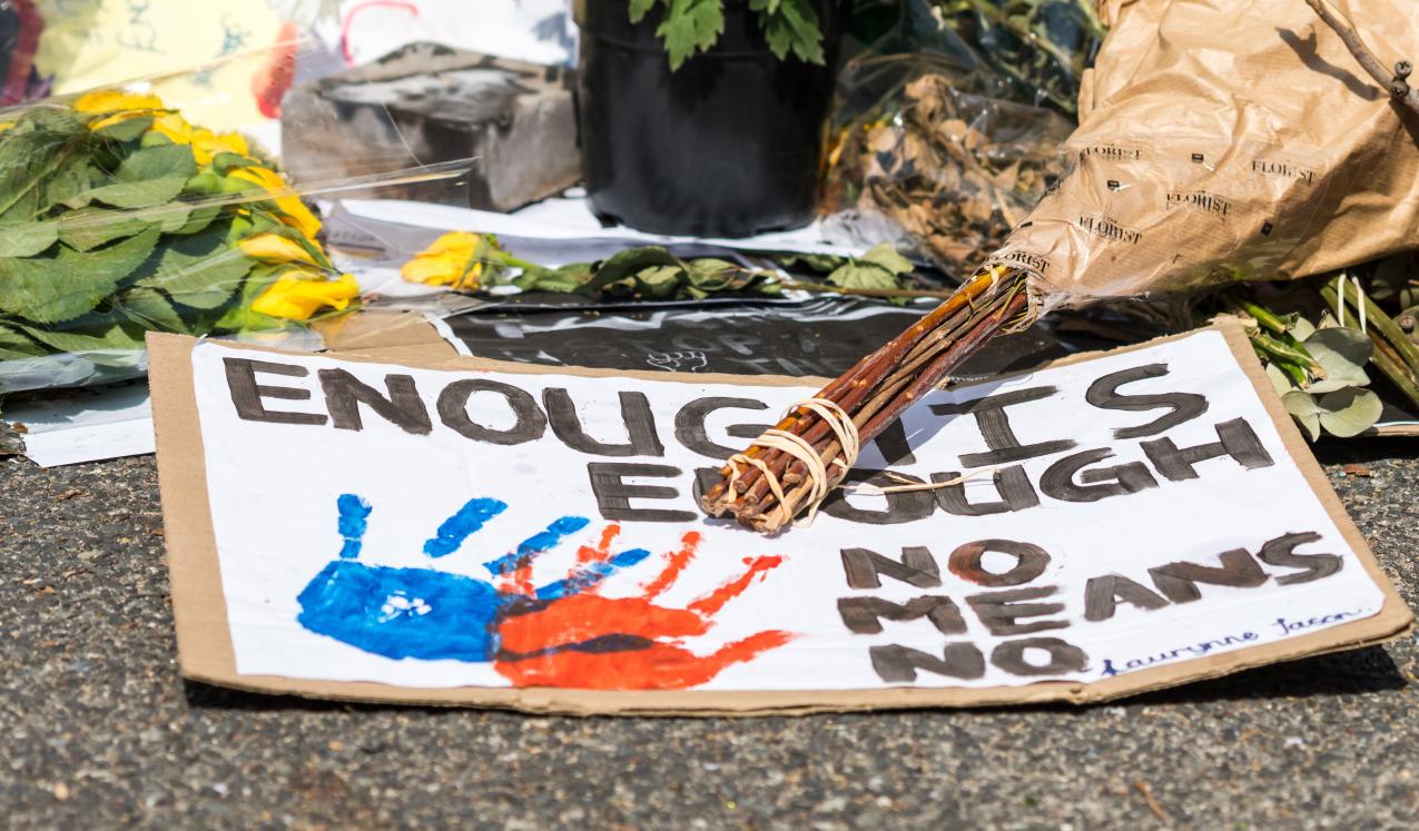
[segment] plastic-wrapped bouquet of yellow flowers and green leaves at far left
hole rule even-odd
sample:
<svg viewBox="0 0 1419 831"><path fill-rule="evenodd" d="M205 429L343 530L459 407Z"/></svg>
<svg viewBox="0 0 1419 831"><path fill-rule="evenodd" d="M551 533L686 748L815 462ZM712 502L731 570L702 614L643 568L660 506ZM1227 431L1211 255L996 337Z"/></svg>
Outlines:
<svg viewBox="0 0 1419 831"><path fill-rule="evenodd" d="M359 285L302 197L471 164L410 157L292 184L243 135L189 123L162 88L0 109L0 393L139 376L148 332L251 339L349 312Z"/></svg>

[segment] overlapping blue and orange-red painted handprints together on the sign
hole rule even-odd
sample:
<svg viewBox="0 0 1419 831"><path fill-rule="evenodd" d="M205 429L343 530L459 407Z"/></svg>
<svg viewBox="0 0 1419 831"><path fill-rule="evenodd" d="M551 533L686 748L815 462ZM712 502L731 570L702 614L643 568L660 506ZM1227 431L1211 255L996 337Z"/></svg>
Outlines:
<svg viewBox="0 0 1419 831"><path fill-rule="evenodd" d="M515 686L678 689L704 684L734 664L788 642L763 631L697 655L683 638L701 635L715 614L780 557L745 560L742 574L684 608L654 601L690 564L700 535L688 532L634 597L603 597L607 577L650 559L646 549L614 552L617 525L595 546L580 546L561 579L535 586L532 564L582 532L589 520L562 516L484 567L492 581L436 569L396 569L360 560L372 513L353 493L336 499L345 543L298 596L301 625L386 658L492 662ZM498 499L470 499L423 547L444 557L507 509Z"/></svg>

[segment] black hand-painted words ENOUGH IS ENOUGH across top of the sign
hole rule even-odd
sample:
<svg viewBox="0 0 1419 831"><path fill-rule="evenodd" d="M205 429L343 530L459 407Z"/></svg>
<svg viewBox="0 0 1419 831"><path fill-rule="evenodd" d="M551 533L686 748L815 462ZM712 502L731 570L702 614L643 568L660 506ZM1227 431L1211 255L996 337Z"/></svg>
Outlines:
<svg viewBox="0 0 1419 831"><path fill-rule="evenodd" d="M299 427L362 431L366 413L412 435L448 430L471 441L490 445L521 445L541 441L548 431L566 448L602 458L664 458L666 428L685 450L707 462L719 462L736 448L718 444L708 435L707 420L721 410L765 411L769 406L749 397L707 396L692 398L674 413L671 424L657 420L648 397L636 390L619 389L622 435L609 440L593 437L578 411L572 394L546 386L541 396L494 377L461 377L437 390L420 390L414 377L404 373L379 373L362 379L348 369L319 369L244 357L223 359L233 407L244 421ZM1232 459L1246 469L1271 467L1274 461L1244 418L1219 421L1212 427L1216 441L1179 447L1166 431L1205 417L1208 398L1198 393L1164 391L1132 394L1121 387L1168 376L1166 363L1141 363L1103 374L1090 383L1084 403L1100 411L1139 413L1138 424L1112 430L1120 442L1137 441L1145 461L1110 464L1118 447L1081 448L1073 438L1022 441L1010 421L1012 407L1042 401L1059 393L1053 386L1034 386L973 398L965 403L928 403L927 408L942 418L971 415L986 447L981 452L959 454L961 469L989 468L995 498L971 501L961 484L931 491L905 491L874 498L873 506L858 506L843 492L823 505L823 512L867 525L895 525L925 519L937 511L956 516L983 516L1017 512L1042 503L1042 496L1060 502L1097 502L1158 488L1162 482L1181 482L1200 476L1199 465L1210 459ZM507 376L502 376L507 377ZM281 404L307 401L307 404ZM474 417L471 403L478 401ZM316 404L318 403L318 404ZM312 408L312 404L319 408ZM585 404L585 403L583 403ZM735 424L724 430L731 438L758 437L768 424ZM900 423L874 440L881 457L891 464L914 464L912 448ZM1139 454L1134 454L1135 457ZM1053 461L1030 475L1022 464L1051 457ZM1057 458L1056 458L1057 457ZM961 469L938 471L932 482L949 482ZM587 462L592 489L604 519L640 522L688 522L695 512L670 508L670 502L688 502L692 486L668 481L684 479L687 471L675 465L646 462ZM718 467L694 471L695 478L712 481ZM667 484L633 484L630 479L660 479ZM922 482L910 474L883 469L856 469L849 481L894 485ZM634 501L634 502L633 502Z"/></svg>

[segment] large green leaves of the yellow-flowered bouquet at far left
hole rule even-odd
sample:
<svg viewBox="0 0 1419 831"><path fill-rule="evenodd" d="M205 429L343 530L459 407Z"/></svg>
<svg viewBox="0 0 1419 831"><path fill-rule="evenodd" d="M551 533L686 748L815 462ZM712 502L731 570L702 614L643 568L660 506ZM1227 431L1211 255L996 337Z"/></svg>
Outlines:
<svg viewBox="0 0 1419 831"><path fill-rule="evenodd" d="M250 312L280 267L257 265L237 242L271 231L295 240L321 268L331 267L325 254L271 213L264 191L231 204L187 201L220 196L233 182L227 172L255 162L221 153L199 166L192 146L150 132L152 116L89 129L105 118L51 105L7 113L14 125L0 130L0 362L24 360L27 372L43 373L45 363L72 366L50 356L82 353L128 372L142 366L145 332L287 326Z"/></svg>

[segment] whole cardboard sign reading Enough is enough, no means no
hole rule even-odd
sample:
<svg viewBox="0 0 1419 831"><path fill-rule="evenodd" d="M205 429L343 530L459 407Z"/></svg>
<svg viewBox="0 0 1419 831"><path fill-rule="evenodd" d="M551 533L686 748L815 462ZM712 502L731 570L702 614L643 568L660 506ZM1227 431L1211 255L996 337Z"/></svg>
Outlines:
<svg viewBox="0 0 1419 831"><path fill-rule="evenodd" d="M695 484L813 379L149 346L182 668L213 684L558 712L1087 702L1412 620L1236 328L934 391L775 537L707 520Z"/></svg>

